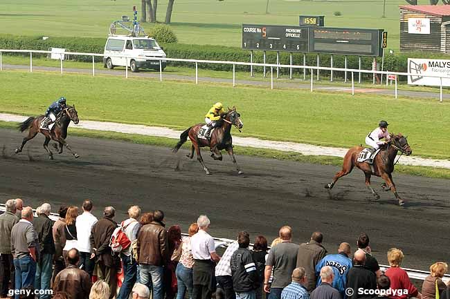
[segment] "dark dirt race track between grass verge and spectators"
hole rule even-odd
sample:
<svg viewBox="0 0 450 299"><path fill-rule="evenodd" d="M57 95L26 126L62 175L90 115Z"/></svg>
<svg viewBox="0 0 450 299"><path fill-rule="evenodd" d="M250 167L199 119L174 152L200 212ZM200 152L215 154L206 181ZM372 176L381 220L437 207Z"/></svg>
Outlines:
<svg viewBox="0 0 450 299"><path fill-rule="evenodd" d="M393 194L380 190L379 178L372 184L381 200L372 200L359 170L343 177L330 195L323 185L338 171L334 166L237 156L244 171L237 176L228 156L215 162L204 153L213 173L207 176L197 160L188 160L187 151L175 156L169 148L156 146L82 137L68 141L80 159L64 151L49 161L42 135L15 155L21 134L0 129L0 201L22 197L34 208L46 201L57 210L59 204L80 205L91 198L96 215L111 205L119 221L130 205L138 204L143 211L163 210L167 224L181 224L183 231L205 213L212 235L235 238L246 230L252 240L262 234L269 242L287 224L294 229L295 242L322 231L332 253L340 242L354 249L357 235L366 231L380 263L386 264L389 248L398 247L406 256L402 266L415 269L450 257L448 180L394 173L406 200L399 207ZM174 170L177 158L179 171Z"/></svg>

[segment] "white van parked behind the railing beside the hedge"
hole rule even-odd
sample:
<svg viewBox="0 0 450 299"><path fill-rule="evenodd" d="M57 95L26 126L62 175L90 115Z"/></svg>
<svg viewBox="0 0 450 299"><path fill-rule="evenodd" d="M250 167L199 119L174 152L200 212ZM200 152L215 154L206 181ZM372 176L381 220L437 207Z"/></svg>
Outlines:
<svg viewBox="0 0 450 299"><path fill-rule="evenodd" d="M128 66L132 72L138 72L139 68L159 70L159 60L150 58L165 58L163 48L154 39L129 35L109 35L103 55L105 68ZM167 61L162 61L163 70L165 66Z"/></svg>

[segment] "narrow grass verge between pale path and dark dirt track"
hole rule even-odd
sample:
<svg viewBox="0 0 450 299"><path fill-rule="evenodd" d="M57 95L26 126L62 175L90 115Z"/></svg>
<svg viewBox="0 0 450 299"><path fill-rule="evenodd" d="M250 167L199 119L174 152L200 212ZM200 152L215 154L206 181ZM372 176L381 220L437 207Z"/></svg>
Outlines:
<svg viewBox="0 0 450 299"><path fill-rule="evenodd" d="M0 128L17 129L17 123L0 121ZM73 127L69 129L69 138L70 136L121 140L125 142L132 142L135 144L149 144L153 146L163 146L167 148L173 148L174 144L176 144L177 142L177 140L175 139L170 139L166 137L153 137L153 136L124 134L108 131L105 132L105 131L85 130ZM190 147L189 142L183 145L183 148L185 149L188 149L189 147ZM206 151L205 149L203 150ZM341 166L343 161L342 158L340 157L323 156L323 155L302 155L300 153L289 151L276 151L265 148L251 148L247 146L235 146L234 150L235 153L237 153L238 155L249 155L253 157L263 157L267 159L287 160L309 164ZM450 179L450 169L447 168L397 165L395 166L395 172L408 175L417 175L422 177L442 178L447 180Z"/></svg>

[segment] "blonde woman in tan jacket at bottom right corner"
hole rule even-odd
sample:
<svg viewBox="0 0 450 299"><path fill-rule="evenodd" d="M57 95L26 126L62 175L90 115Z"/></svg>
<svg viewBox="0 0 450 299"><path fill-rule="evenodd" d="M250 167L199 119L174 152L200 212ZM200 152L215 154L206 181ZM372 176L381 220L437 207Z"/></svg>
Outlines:
<svg viewBox="0 0 450 299"><path fill-rule="evenodd" d="M440 298L442 292L447 289L447 285L442 281L442 277L444 277L448 269L449 266L445 262L435 262L430 266L431 274L426 276L422 284L422 299Z"/></svg>

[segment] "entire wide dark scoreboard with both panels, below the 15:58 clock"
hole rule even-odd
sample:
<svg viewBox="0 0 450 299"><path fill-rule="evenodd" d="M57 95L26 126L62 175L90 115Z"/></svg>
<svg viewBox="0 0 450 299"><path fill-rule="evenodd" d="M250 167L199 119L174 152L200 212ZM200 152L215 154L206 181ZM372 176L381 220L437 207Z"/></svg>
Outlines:
<svg viewBox="0 0 450 299"><path fill-rule="evenodd" d="M242 25L243 50L381 56L383 29Z"/></svg>

